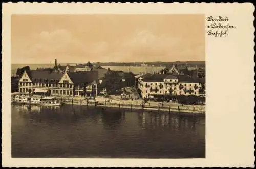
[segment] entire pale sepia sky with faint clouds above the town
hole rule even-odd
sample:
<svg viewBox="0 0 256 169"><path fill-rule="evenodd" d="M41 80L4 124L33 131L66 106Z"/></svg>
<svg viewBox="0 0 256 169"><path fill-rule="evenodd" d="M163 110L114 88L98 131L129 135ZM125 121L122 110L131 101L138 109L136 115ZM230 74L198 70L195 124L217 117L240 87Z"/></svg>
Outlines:
<svg viewBox="0 0 256 169"><path fill-rule="evenodd" d="M12 15L12 63L205 60L204 15Z"/></svg>

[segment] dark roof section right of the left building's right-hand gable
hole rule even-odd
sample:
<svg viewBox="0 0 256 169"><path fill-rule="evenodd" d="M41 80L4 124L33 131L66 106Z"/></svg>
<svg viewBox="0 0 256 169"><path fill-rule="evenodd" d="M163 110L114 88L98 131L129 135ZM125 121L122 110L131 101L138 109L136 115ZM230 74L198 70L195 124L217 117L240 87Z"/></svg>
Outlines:
<svg viewBox="0 0 256 169"><path fill-rule="evenodd" d="M94 80L98 80L97 71L77 71L68 73L70 79L74 85L92 83Z"/></svg>

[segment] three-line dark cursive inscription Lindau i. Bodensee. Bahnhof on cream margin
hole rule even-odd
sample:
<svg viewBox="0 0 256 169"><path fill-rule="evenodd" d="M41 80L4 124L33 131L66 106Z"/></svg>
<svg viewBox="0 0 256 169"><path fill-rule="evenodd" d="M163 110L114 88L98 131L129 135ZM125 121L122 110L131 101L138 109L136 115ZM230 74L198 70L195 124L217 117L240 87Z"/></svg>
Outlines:
<svg viewBox="0 0 256 169"><path fill-rule="evenodd" d="M230 29L236 28L236 26L229 23L228 17L207 17L207 35L214 37L226 37Z"/></svg>

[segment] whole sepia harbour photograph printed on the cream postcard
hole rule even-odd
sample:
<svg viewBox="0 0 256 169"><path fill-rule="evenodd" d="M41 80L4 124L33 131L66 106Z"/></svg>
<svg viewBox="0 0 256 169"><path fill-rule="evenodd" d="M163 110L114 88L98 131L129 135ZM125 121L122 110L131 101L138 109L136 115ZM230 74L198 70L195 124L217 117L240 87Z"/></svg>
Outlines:
<svg viewBox="0 0 256 169"><path fill-rule="evenodd" d="M204 18L12 15L12 157L205 158Z"/></svg>

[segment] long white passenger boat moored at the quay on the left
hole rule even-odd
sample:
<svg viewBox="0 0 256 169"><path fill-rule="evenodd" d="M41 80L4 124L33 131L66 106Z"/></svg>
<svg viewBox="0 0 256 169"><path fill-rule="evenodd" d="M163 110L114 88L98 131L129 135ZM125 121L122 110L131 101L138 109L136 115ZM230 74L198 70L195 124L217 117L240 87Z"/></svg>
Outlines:
<svg viewBox="0 0 256 169"><path fill-rule="evenodd" d="M17 94L12 96L11 102L31 104L31 105L45 105L45 106L61 106L63 104L53 96L25 95L25 94Z"/></svg>

